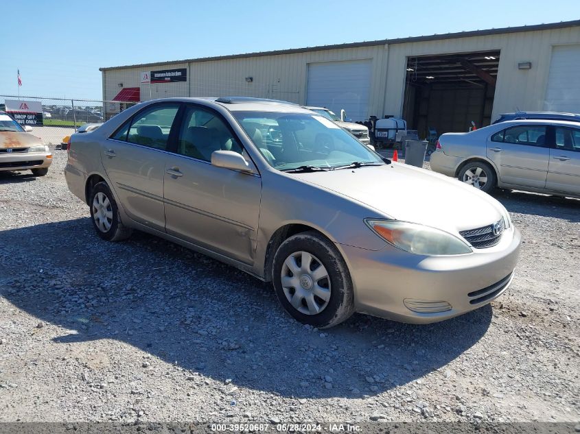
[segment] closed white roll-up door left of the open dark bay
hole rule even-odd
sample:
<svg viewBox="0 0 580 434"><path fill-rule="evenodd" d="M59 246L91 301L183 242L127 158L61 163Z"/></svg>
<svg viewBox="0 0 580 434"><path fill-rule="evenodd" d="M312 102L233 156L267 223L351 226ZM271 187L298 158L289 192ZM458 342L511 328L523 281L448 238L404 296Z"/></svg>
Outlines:
<svg viewBox="0 0 580 434"><path fill-rule="evenodd" d="M371 60L308 64L306 104L326 107L340 116L344 108L353 121L369 117Z"/></svg>

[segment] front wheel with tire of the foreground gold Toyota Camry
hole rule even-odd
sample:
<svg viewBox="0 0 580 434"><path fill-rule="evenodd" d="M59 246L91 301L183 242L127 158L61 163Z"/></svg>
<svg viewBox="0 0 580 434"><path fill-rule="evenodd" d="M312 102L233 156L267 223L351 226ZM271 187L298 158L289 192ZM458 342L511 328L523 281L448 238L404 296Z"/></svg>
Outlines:
<svg viewBox="0 0 580 434"><path fill-rule="evenodd" d="M308 270L305 261L310 263ZM301 232L281 243L274 256L272 282L280 304L303 324L329 328L354 312L345 260L318 232Z"/></svg>

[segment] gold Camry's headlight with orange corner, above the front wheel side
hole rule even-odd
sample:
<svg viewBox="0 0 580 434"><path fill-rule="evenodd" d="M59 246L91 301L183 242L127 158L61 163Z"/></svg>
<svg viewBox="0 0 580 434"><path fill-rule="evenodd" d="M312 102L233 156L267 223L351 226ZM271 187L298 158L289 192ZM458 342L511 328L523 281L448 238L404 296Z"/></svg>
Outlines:
<svg viewBox="0 0 580 434"><path fill-rule="evenodd" d="M443 230L397 220L364 222L379 237L406 252L432 256L472 253L467 243Z"/></svg>

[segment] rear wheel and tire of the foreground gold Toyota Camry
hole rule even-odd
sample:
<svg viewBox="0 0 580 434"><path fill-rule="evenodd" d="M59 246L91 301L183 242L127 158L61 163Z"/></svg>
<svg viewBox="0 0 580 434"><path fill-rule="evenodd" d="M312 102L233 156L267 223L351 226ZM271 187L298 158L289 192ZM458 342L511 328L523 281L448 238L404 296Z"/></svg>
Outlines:
<svg viewBox="0 0 580 434"><path fill-rule="evenodd" d="M93 187L89 208L93 227L99 237L105 241L121 241L130 237L132 230L121 222L117 202L106 182L99 182Z"/></svg>

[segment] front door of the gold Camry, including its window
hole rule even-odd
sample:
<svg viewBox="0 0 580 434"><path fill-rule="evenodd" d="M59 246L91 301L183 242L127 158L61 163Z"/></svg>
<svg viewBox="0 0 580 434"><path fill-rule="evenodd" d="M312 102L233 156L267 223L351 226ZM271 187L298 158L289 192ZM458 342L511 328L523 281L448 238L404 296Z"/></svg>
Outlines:
<svg viewBox="0 0 580 434"><path fill-rule="evenodd" d="M211 153L242 154L222 117L187 106L176 154L165 163L165 219L168 234L251 265L255 258L262 179L211 165ZM253 165L253 163L251 163Z"/></svg>

